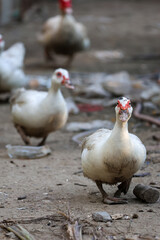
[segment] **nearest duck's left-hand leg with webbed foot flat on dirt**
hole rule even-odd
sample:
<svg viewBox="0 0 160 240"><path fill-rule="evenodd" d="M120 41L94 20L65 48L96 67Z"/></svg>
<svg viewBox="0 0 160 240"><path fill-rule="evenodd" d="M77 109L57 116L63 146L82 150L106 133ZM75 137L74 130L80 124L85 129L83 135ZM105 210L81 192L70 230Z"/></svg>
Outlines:
<svg viewBox="0 0 160 240"><path fill-rule="evenodd" d="M104 203L107 203L107 204L124 204L124 203L127 203L127 201L124 200L124 199L119 199L119 198L116 198L116 197L109 197L108 194L104 191L101 181L96 181L96 185L97 185L99 191L102 194Z"/></svg>

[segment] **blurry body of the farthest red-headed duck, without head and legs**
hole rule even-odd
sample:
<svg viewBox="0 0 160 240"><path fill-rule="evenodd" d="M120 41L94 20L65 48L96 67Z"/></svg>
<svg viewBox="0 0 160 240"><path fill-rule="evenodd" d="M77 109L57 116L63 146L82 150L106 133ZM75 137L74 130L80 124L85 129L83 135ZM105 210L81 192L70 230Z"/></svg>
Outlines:
<svg viewBox="0 0 160 240"><path fill-rule="evenodd" d="M85 50L90 45L86 27L68 14L48 19L38 40L44 46L52 46L56 53L66 55Z"/></svg>

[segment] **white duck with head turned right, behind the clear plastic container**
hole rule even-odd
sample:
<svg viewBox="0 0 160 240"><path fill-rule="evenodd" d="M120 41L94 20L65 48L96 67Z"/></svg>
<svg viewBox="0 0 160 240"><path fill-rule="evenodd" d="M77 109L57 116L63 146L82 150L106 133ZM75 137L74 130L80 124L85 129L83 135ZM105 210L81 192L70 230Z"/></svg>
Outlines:
<svg viewBox="0 0 160 240"><path fill-rule="evenodd" d="M17 89L10 99L12 121L26 145L30 137L42 138L44 145L48 135L62 128L68 118L66 101L61 86L73 89L66 69L56 69L48 92Z"/></svg>

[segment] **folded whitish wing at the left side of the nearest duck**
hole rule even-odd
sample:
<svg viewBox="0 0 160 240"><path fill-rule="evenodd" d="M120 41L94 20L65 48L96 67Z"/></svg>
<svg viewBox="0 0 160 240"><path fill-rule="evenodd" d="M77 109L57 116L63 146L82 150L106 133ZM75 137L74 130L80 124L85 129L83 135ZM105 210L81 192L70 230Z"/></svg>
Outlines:
<svg viewBox="0 0 160 240"><path fill-rule="evenodd" d="M94 146L97 143L100 143L101 141L106 141L108 137L110 136L111 130L109 129L99 129L92 135L84 138L82 142L82 151L87 148L87 150L91 150L94 148Z"/></svg>

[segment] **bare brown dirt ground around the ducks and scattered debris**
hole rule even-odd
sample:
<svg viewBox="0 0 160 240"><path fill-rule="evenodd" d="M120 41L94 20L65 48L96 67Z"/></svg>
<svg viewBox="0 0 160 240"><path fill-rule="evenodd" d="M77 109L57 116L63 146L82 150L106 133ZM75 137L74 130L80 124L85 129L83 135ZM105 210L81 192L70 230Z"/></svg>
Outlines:
<svg viewBox="0 0 160 240"><path fill-rule="evenodd" d="M42 5L41 14L31 13L23 23L13 23L1 27L7 46L23 41L26 45L26 73L52 74L43 60L41 47L36 43L35 33L42 22L55 15L55 2ZM158 1L75 1L74 15L88 27L92 48L77 54L71 72L117 72L126 70L134 75L158 72L160 59L160 2ZM97 59L94 51L120 50L121 60ZM146 59L146 56L152 58ZM131 57L137 56L136 60ZM62 59L63 60L63 59ZM61 59L59 59L61 61ZM74 83L74 79L73 79ZM73 95L65 92L65 95ZM13 220L25 227L39 240L68 239L65 225L67 220L60 214L70 213L70 218L82 225L83 239L160 239L159 202L147 204L138 201L133 188L138 183L155 183L160 187L160 156L148 153L146 163L140 172L150 172L150 176L133 178L126 197L128 204L105 205L95 183L83 177L81 172L80 147L72 141L75 133L65 128L52 133L47 145L52 150L50 156L34 159L10 159L5 145L22 145L10 117L9 104L0 105L0 221ZM70 114L68 122L107 119L114 121L114 108L101 112ZM160 129L132 117L129 122L131 132L139 136L144 144L160 150L153 136ZM36 144L36 140L32 141ZM157 155L156 155L157 156ZM116 186L106 186L113 195ZM25 196L25 199L18 200ZM107 211L109 214L137 214L137 218L113 220L111 224L94 222L92 213ZM139 238L138 238L139 236ZM0 229L0 239L12 239ZM78 238L75 238L78 239Z"/></svg>

